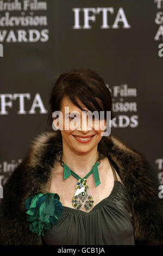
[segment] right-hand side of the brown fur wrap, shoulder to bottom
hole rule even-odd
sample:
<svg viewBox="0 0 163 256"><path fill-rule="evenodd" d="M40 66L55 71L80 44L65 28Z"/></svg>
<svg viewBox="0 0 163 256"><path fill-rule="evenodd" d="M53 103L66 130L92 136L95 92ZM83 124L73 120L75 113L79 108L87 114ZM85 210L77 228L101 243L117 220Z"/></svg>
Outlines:
<svg viewBox="0 0 163 256"><path fill-rule="evenodd" d="M135 243L162 245L163 211L156 170L145 155L114 136L110 157L131 199Z"/></svg>

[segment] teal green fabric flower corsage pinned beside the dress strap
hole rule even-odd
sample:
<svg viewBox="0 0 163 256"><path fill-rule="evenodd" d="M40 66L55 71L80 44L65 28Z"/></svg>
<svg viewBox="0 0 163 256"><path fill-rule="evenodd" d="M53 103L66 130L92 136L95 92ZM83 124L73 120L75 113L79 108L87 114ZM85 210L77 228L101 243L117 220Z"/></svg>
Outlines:
<svg viewBox="0 0 163 256"><path fill-rule="evenodd" d="M26 207L29 229L37 235L57 223L64 208L57 193L34 194L23 203Z"/></svg>

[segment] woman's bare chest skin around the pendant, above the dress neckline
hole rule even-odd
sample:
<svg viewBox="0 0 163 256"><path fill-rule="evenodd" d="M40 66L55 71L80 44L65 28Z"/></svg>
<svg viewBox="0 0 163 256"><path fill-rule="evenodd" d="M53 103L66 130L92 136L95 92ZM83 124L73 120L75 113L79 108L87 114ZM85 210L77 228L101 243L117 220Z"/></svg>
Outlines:
<svg viewBox="0 0 163 256"><path fill-rule="evenodd" d="M86 179L87 184L89 185L89 191L91 193L91 196L93 197L93 207L101 200L108 197L114 187L114 175L111 168L108 167L101 169L99 172L99 178L101 184L99 184L97 187L95 185L93 173ZM59 194L60 202L63 206L73 208L72 198L77 191L77 182L78 179L75 178L73 175L71 175L67 179L64 179L62 172L54 174L51 179L50 192ZM87 212L85 208L81 208L81 210Z"/></svg>

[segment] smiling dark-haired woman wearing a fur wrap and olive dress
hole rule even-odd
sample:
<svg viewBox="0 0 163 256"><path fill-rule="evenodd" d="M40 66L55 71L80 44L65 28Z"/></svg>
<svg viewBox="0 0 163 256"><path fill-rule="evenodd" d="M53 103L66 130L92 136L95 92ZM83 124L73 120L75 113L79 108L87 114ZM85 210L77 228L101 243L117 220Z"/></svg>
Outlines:
<svg viewBox="0 0 163 256"><path fill-rule="evenodd" d="M104 136L106 112L114 118L104 80L92 70L62 74L49 103L52 131L34 139L4 186L1 243L161 245L158 180L142 154ZM105 115L89 123L86 111Z"/></svg>

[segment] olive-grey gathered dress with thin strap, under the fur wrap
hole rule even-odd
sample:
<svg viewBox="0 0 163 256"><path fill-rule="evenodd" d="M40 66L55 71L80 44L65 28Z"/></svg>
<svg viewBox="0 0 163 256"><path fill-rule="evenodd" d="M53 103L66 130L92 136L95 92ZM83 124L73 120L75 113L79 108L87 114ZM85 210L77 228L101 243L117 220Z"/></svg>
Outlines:
<svg viewBox="0 0 163 256"><path fill-rule="evenodd" d="M115 181L110 195L89 212L64 206L58 223L42 237L46 245L135 245L130 198L111 168Z"/></svg>

